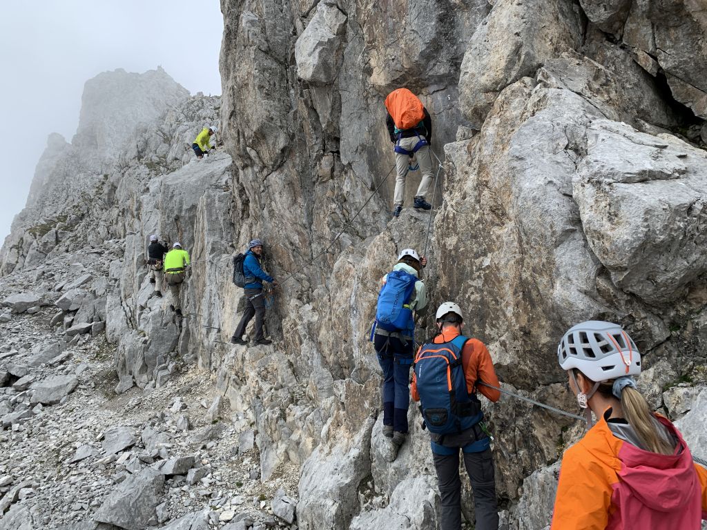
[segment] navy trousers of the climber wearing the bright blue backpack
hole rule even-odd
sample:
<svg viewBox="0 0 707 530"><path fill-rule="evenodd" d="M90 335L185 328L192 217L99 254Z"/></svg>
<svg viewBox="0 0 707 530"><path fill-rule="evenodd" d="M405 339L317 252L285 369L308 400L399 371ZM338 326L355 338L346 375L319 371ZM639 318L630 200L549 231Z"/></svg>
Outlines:
<svg viewBox="0 0 707 530"><path fill-rule="evenodd" d="M412 339L403 343L399 338L376 334L373 346L383 372L383 425L407 432L407 409L410 406L410 368L413 361Z"/></svg>

